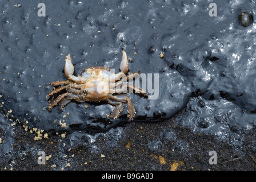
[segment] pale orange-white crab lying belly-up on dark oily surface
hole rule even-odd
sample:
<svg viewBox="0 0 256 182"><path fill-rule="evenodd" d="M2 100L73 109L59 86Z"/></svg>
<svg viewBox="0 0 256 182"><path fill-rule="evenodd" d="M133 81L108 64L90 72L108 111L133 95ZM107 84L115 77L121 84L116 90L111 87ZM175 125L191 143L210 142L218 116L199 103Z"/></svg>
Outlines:
<svg viewBox="0 0 256 182"><path fill-rule="evenodd" d="M50 85L57 85L58 87L54 87L46 98L54 94L58 94L58 96L50 102L49 111L57 104L63 110L63 107L72 100L77 102L107 101L110 105L115 106L110 114L111 118L117 118L123 110L123 104L127 104L129 121L133 120L135 116L133 101L123 93L127 92L127 88L134 90L135 93L142 94L143 97L147 97L147 93L142 88L131 85L130 81L127 81L137 77L139 71L127 75L129 66L125 51L122 51L122 60L119 65L120 72L117 74L113 73L111 68L102 66L85 68L78 76L74 76L74 65L71 62L70 54L66 56L65 61L64 72L68 80L50 83ZM63 93L62 90L65 92Z"/></svg>

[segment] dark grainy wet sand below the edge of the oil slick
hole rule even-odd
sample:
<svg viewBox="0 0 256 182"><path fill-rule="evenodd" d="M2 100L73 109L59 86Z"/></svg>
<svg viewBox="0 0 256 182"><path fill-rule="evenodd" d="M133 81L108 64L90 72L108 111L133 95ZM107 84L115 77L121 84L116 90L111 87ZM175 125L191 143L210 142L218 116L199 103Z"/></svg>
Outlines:
<svg viewBox="0 0 256 182"><path fill-rule="evenodd" d="M182 115L183 111L174 118ZM115 143L102 135L91 144L86 138L72 147L62 147L63 138L51 135L35 141L35 134L13 126L14 143L1 156L5 170L255 170L255 130L237 131L242 148L221 142L214 136L193 133L174 119L165 122L130 122ZM118 129L115 129L118 130ZM160 136L172 131L176 139ZM0 131L1 132L1 131ZM149 146L151 141L158 141ZM112 143L112 144L111 144ZM254 143L254 145L253 145ZM186 147L187 146L187 147ZM38 164L38 151L45 151L46 164ZM209 164L209 152L217 152L217 164Z"/></svg>

